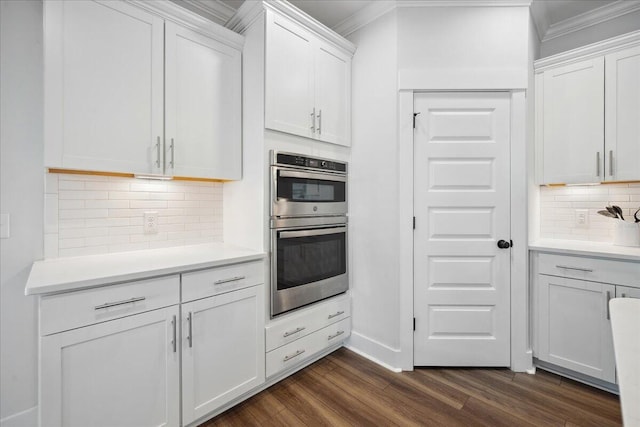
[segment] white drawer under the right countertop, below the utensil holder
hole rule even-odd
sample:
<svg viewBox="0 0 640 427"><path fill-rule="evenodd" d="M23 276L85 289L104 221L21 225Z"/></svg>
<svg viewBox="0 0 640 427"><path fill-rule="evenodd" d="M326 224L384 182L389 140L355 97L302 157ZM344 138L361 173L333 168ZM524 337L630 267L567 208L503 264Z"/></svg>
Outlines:
<svg viewBox="0 0 640 427"><path fill-rule="evenodd" d="M640 263L570 255L539 254L539 273L640 287Z"/></svg>

